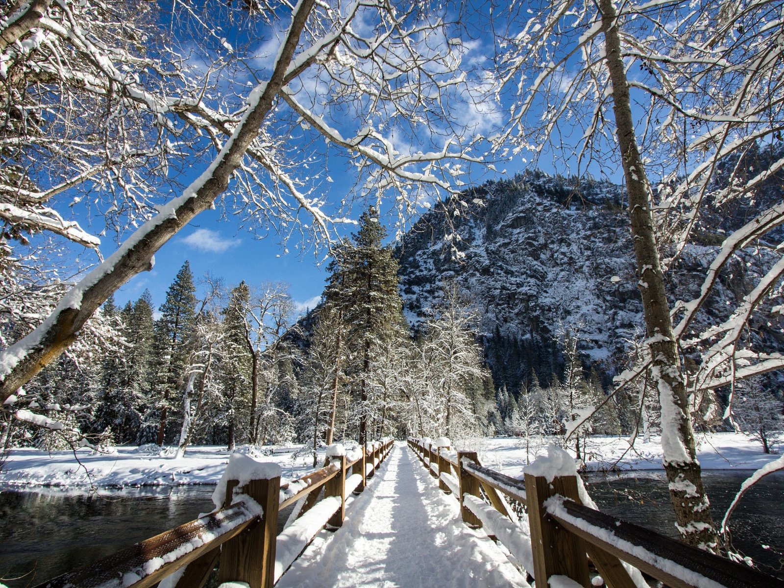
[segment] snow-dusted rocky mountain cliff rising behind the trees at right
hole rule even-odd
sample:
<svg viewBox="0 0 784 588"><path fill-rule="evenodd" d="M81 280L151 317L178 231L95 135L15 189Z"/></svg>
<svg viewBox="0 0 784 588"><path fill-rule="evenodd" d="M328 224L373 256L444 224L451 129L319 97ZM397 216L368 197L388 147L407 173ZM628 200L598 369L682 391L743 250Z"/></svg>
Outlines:
<svg viewBox="0 0 784 588"><path fill-rule="evenodd" d="M532 172L487 183L424 215L397 247L401 292L410 321L454 280L481 310L485 350L495 385L519 390L535 372L548 383L561 371L558 332L579 332L586 367L609 377L644 332L622 187L575 185ZM715 248L689 245L670 270L672 299L699 292ZM739 296L775 254L746 250L721 276L696 330L727 318ZM731 303L728 304L728 301ZM767 315L755 326L766 347L782 348L780 325Z"/></svg>

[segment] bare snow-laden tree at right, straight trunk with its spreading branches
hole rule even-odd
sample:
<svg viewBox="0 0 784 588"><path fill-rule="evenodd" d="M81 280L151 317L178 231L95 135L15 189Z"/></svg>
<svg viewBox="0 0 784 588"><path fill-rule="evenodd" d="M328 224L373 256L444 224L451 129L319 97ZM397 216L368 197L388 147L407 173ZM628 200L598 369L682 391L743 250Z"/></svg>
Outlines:
<svg viewBox="0 0 784 588"><path fill-rule="evenodd" d="M717 534L695 457L679 346L687 344L688 327L721 268L778 227L784 209L763 207L724 240L696 299L670 304L664 277L703 210L739 199L753 205L754 194L784 165L773 158L750 175L740 163L781 132L780 5L625 2L616 9L611 0L575 0L546 3L533 16L524 8L514 5L519 28L506 35L498 60L517 100L504 138L535 153L556 143L578 173L597 162L602 171L612 161L622 167L670 495L684 539L711 549ZM735 169L717 181L722 164L731 161ZM649 177L658 182L656 190ZM736 378L782 365L779 354L739 346L742 325L775 289L782 270L784 260L773 263L728 321L688 341L698 349L700 342L715 342L702 362L707 377L692 387L728 382L718 365L730 366ZM736 366L740 357L744 365Z"/></svg>

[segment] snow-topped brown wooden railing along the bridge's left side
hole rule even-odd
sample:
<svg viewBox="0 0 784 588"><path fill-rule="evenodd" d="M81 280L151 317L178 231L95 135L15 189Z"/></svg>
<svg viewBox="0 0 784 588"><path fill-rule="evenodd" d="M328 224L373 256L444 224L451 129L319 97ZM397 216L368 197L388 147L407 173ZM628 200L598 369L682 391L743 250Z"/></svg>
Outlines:
<svg viewBox="0 0 784 588"><path fill-rule="evenodd" d="M219 583L271 588L322 528L343 524L347 495L365 488L393 445L373 441L355 452L332 445L325 467L285 485L278 464L234 454L223 508L36 588L144 588L167 577L172 588L201 588L219 557ZM292 505L278 534L278 512Z"/></svg>

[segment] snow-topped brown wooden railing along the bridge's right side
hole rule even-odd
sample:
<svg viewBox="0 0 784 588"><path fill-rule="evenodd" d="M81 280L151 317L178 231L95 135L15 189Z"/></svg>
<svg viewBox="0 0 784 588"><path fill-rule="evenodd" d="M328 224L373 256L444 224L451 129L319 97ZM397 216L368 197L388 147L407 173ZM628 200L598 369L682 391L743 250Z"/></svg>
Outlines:
<svg viewBox="0 0 784 588"><path fill-rule="evenodd" d="M534 579L560 575L591 586L593 564L609 588L647 586L638 570L672 588L784 588L757 569L583 505L575 475L525 474L523 482L481 466L476 452L413 437L408 446L439 487L458 498L463 521L484 527Z"/></svg>

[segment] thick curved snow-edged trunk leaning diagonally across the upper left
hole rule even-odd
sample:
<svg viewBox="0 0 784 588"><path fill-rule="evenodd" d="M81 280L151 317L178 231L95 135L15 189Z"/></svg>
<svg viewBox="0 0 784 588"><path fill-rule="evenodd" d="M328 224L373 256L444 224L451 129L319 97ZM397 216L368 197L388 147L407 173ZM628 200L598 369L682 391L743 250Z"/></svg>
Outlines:
<svg viewBox="0 0 784 588"><path fill-rule="evenodd" d="M269 82L252 91L249 110L212 165L182 196L171 201L164 212L144 223L117 252L74 286L42 325L0 354L3 366L0 404L60 357L98 307L130 278L151 270L154 253L199 212L211 208L215 199L227 189L230 177L272 110L275 97L288 81L287 72L314 3L315 0L302 0L299 9L292 14L289 34ZM256 92L260 95L254 103Z"/></svg>

